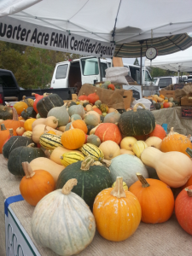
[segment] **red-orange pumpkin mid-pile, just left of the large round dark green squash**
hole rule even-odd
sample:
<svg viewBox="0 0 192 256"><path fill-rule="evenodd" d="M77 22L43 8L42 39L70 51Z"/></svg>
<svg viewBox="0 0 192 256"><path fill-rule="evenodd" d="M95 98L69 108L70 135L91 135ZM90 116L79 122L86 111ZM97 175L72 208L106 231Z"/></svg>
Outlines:
<svg viewBox="0 0 192 256"><path fill-rule="evenodd" d="M122 140L121 133L117 125L111 123L101 124L96 128L95 135L100 138L101 142L113 141L120 144Z"/></svg>

